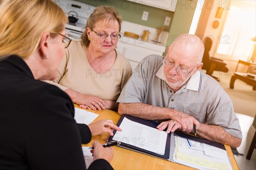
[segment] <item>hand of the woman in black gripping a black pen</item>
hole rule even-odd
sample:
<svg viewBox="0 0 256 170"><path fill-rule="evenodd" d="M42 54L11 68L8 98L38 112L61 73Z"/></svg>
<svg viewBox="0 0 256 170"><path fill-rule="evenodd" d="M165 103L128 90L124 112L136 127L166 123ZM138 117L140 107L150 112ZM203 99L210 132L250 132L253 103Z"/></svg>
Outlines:
<svg viewBox="0 0 256 170"><path fill-rule="evenodd" d="M97 159L105 159L109 163L113 159L113 148L112 147L102 147L98 141L93 142L94 149L90 150L93 153L93 161Z"/></svg>

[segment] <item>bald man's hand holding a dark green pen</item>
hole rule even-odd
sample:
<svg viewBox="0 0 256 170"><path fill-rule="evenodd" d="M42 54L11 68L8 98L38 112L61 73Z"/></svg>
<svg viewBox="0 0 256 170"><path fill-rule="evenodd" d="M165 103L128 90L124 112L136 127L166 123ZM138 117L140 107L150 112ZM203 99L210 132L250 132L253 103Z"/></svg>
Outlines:
<svg viewBox="0 0 256 170"><path fill-rule="evenodd" d="M191 133L193 131L194 124L195 124L196 130L198 130L200 126L200 123L198 120L196 120L190 115L187 115L186 113L179 112L177 110L173 112L171 119L180 123L181 131L186 133Z"/></svg>

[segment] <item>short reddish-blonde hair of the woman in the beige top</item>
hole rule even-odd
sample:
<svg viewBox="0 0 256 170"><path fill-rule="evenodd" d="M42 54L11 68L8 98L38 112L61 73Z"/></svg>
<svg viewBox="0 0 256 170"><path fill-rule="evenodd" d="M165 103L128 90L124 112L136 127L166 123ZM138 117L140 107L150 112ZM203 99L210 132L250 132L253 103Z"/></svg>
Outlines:
<svg viewBox="0 0 256 170"><path fill-rule="evenodd" d="M85 30L81 35L82 43L85 46L90 44L88 40L88 35L86 28L94 29L95 23L103 20L105 23L111 23L112 21L117 21L119 24L119 32L121 31L122 16L111 6L98 6L94 9L93 13L87 20Z"/></svg>

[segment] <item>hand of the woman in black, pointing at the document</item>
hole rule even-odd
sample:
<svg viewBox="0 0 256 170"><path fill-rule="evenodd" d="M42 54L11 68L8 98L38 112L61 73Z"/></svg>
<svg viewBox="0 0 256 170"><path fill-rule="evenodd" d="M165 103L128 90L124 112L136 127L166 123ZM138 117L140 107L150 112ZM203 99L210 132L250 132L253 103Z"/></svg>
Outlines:
<svg viewBox="0 0 256 170"><path fill-rule="evenodd" d="M102 133L108 133L109 135L113 135L113 130L122 131L118 126L113 124L112 120L99 120L92 124L89 124L88 127L93 136L100 135Z"/></svg>

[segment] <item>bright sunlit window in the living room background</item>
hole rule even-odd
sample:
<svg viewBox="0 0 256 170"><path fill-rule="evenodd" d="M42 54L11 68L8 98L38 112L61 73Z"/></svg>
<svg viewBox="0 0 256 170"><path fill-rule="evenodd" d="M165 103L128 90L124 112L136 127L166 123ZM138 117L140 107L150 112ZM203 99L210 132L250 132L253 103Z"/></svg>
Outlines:
<svg viewBox="0 0 256 170"><path fill-rule="evenodd" d="M247 60L253 51L256 34L255 6L231 4L222 34L218 37L217 54L231 60Z"/></svg>

